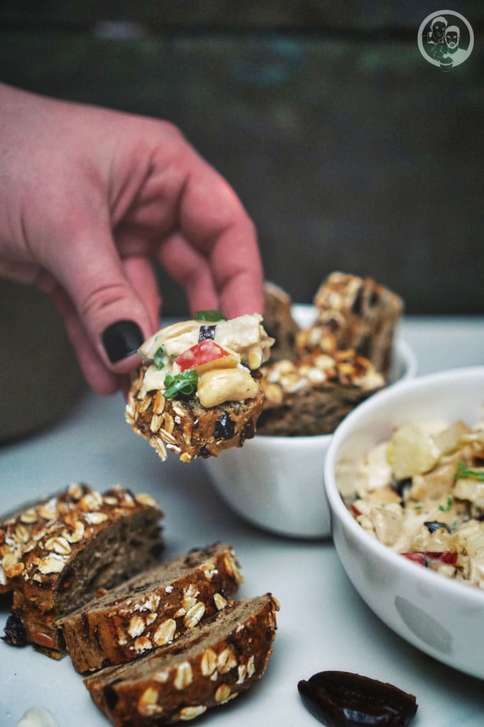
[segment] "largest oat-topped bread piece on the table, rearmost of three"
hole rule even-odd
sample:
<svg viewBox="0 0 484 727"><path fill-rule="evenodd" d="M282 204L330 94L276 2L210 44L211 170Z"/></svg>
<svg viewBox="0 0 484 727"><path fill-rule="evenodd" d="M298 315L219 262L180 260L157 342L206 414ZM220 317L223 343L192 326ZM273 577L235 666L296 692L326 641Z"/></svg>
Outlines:
<svg viewBox="0 0 484 727"><path fill-rule="evenodd" d="M86 485L19 510L0 524L1 588L13 591L5 640L32 643L60 658L55 620L155 565L163 515L152 497L115 486L104 493Z"/></svg>

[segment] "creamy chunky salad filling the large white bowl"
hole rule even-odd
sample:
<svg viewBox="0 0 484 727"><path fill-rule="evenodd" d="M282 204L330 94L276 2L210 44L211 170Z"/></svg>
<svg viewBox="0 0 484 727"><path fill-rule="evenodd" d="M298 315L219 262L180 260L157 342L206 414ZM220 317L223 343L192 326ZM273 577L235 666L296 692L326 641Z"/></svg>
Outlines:
<svg viewBox="0 0 484 727"><path fill-rule="evenodd" d="M348 507L369 534L484 589L484 422L396 427L358 462L353 483Z"/></svg>

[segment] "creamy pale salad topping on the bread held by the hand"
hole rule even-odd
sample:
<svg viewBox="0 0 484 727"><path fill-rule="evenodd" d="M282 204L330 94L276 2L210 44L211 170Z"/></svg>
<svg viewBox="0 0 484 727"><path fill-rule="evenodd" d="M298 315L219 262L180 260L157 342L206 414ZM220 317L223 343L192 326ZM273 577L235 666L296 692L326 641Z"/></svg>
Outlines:
<svg viewBox="0 0 484 727"><path fill-rule="evenodd" d="M182 321L161 329L139 348L149 365L144 372L141 395L166 390L165 379L181 369L176 358L200 342L202 326L213 328L212 340L226 353L202 366L196 395L202 406L218 406L225 401L245 401L258 393L258 384L250 370L258 369L269 358L274 339L268 337L262 316L239 316L229 321Z"/></svg>

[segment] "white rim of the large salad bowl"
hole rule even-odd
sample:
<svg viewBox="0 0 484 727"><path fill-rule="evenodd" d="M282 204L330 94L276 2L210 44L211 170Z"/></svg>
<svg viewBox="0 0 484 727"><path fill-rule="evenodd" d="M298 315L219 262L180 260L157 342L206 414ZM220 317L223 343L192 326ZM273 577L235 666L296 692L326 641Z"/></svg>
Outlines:
<svg viewBox="0 0 484 727"><path fill-rule="evenodd" d="M414 579L415 582L422 584L432 583L433 587L440 588L443 593L454 598L466 598L469 603L483 606L484 591L479 587L466 585L464 582L449 579L442 574L435 573L430 569L422 569L417 567L415 563L411 563L406 558L402 558L399 553L395 553L390 547L383 545L382 542L373 538L371 535L359 525L353 516L349 513L340 492L337 489L335 478L335 463L337 454L346 438L348 429L352 429L358 422L364 421L366 412L371 411L374 406L385 406L386 403L392 401L394 397L400 398L404 393L422 390L430 384L438 384L447 382L452 379L462 377L481 377L484 382L484 366L468 366L459 369L446 369L432 374L426 374L415 379L398 382L392 387L388 387L372 396L350 411L343 422L335 430L332 441L324 460L324 491L328 500L329 510L331 513L331 530L334 531L333 518L339 518L345 529L355 537L365 550L370 551L372 555L380 561L386 561L388 565L393 566L403 573ZM430 577L430 581L428 580ZM433 581L432 581L433 579Z"/></svg>

